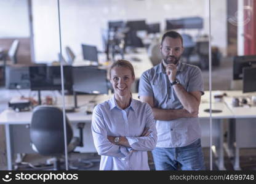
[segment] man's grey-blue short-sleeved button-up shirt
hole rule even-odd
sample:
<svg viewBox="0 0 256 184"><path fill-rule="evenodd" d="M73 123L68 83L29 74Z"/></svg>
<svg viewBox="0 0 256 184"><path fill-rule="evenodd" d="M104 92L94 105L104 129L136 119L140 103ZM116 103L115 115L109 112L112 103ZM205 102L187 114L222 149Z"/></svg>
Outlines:
<svg viewBox="0 0 256 184"><path fill-rule="evenodd" d="M203 91L199 67L178 63L176 78L186 91ZM162 63L145 71L140 78L138 96L152 96L154 107L159 109L183 109ZM174 148L193 143L201 137L198 118L178 118L170 121L156 120L158 144L156 147Z"/></svg>

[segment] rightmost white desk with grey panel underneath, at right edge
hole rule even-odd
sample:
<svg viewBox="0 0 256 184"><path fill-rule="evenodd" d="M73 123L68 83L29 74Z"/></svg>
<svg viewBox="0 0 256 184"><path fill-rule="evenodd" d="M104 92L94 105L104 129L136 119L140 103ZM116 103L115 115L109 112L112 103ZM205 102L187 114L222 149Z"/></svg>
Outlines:
<svg viewBox="0 0 256 184"><path fill-rule="evenodd" d="M256 93L242 93L242 91L232 91L224 98L224 102L233 113L234 117L230 120L228 126L228 143L225 144L225 150L228 156L233 159L234 170L241 170L239 164L240 148L255 148L255 123L256 106L233 107L233 97L244 98L255 96ZM246 133L245 133L246 132Z"/></svg>

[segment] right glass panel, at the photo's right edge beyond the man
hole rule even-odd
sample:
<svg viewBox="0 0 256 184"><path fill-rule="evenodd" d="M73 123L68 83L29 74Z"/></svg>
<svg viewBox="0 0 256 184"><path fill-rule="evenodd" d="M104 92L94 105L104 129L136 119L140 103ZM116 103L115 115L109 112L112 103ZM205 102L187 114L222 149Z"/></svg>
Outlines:
<svg viewBox="0 0 256 184"><path fill-rule="evenodd" d="M255 166L255 142L250 139L255 126L254 9L250 0L211 1L212 14L220 16L211 22L212 109L225 115L219 136L222 166L227 170L254 170Z"/></svg>

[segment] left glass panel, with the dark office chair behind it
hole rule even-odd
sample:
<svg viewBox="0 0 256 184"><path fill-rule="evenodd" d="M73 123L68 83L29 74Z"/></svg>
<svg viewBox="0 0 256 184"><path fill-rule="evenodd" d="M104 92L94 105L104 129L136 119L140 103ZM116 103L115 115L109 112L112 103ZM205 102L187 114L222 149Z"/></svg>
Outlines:
<svg viewBox="0 0 256 184"><path fill-rule="evenodd" d="M0 4L5 25L1 46L7 50L0 118L6 131L6 139L1 139L6 140L6 169L60 169L58 156L65 144L57 1ZM68 75L71 67L63 71L68 91L73 83Z"/></svg>

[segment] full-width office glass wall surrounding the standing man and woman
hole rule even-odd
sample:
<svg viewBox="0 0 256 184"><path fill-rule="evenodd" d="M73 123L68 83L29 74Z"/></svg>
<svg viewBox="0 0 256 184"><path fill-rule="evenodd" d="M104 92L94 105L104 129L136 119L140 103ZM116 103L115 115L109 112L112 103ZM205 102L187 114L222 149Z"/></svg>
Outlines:
<svg viewBox="0 0 256 184"><path fill-rule="evenodd" d="M162 35L174 30L183 37L180 62L198 67L202 74L204 95L198 118L206 169L254 169L254 1L62 0L58 6L57 0L24 0L0 4L0 9L5 7L0 18L7 25L0 30L0 58L7 60L0 112L0 131L6 133L0 144L6 150L0 150L0 154L7 151L8 162L0 162L2 167L10 169L12 154L16 159L16 163L12 159L13 166L22 159L35 163L46 160L42 155L47 155L47 145L52 151L65 153L69 169L98 170L100 156L94 146L91 120L95 106L114 95L108 71L111 64L118 59L132 63L135 82L131 92L132 98L138 99L143 72L161 63ZM13 14L8 13L11 9L18 13L7 19L4 15ZM15 26L7 20L15 20ZM8 52L16 39L17 63L8 64L13 58ZM184 80L191 83L193 79ZM30 108L14 106L6 110L7 102L14 98L29 102ZM58 146L48 138L39 143L33 140L37 126L32 124L32 115L39 104L60 110L58 126L55 116L59 112L39 118L41 125L49 118L47 122L54 120L55 128L62 129L60 136L49 138L60 139ZM54 126L44 128L45 132L55 130ZM65 141L73 144L77 153L65 150ZM30 142L39 144L39 154ZM151 151L148 163L154 170Z"/></svg>

